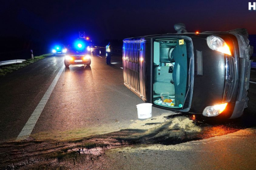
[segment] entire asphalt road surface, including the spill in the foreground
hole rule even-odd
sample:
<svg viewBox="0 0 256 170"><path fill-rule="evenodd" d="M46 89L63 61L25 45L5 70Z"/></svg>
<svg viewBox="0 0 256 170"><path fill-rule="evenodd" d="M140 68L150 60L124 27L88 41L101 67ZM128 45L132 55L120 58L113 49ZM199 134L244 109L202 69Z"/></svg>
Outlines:
<svg viewBox="0 0 256 170"><path fill-rule="evenodd" d="M0 168L254 169L256 84L239 119L153 107L152 119L141 121L142 101L123 85L120 57L112 58L111 66L94 55L91 66L65 69L31 136L1 143ZM18 136L62 65L63 56L47 57L1 78L1 141Z"/></svg>

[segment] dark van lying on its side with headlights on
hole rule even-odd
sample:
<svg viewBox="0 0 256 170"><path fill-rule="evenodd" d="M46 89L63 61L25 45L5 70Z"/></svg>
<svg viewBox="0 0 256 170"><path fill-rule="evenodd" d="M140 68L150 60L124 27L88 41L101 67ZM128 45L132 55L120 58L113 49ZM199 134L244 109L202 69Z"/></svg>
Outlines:
<svg viewBox="0 0 256 170"><path fill-rule="evenodd" d="M238 118L247 107L253 47L245 29L123 40L124 84L143 101L171 111Z"/></svg>

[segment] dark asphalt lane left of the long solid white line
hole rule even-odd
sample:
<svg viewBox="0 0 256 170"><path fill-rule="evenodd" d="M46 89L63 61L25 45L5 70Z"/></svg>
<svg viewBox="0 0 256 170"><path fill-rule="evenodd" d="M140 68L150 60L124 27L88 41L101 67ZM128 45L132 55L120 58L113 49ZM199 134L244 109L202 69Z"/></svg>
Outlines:
<svg viewBox="0 0 256 170"><path fill-rule="evenodd" d="M59 56L47 57L0 78L0 140L19 135L62 61Z"/></svg>

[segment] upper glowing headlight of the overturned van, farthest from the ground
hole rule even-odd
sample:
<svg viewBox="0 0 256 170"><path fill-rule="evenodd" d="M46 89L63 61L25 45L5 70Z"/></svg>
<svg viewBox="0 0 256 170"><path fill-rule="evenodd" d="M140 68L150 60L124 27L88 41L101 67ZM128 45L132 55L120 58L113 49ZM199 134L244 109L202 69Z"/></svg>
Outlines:
<svg viewBox="0 0 256 170"><path fill-rule="evenodd" d="M225 43L225 41L218 36L215 36L215 35L208 36L207 37L207 45L212 50L216 50L221 53L231 55L231 51L230 51L227 43Z"/></svg>

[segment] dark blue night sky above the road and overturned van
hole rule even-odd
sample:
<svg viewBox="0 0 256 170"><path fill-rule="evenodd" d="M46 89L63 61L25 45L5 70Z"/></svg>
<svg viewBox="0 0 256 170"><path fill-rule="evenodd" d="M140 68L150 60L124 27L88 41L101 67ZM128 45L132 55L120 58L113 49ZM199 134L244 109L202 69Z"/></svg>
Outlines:
<svg viewBox="0 0 256 170"><path fill-rule="evenodd" d="M0 36L68 41L85 31L91 40L102 41L175 33L173 25L179 22L186 24L188 32L246 28L256 34L256 11L248 10L248 2L1 0Z"/></svg>

